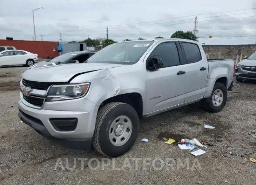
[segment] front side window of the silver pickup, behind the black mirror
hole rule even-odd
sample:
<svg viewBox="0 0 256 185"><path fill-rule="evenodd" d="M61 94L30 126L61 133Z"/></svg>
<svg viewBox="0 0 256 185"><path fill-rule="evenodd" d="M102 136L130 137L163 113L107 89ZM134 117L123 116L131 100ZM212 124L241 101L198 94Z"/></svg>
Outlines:
<svg viewBox="0 0 256 185"><path fill-rule="evenodd" d="M180 64L178 50L175 42L162 43L151 53L151 57L161 58L163 67L176 66Z"/></svg>

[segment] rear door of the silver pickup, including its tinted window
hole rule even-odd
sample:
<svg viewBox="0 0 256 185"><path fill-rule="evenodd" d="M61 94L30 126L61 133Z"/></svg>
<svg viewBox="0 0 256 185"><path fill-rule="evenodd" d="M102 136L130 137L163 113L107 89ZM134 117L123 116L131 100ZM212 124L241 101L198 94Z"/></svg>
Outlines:
<svg viewBox="0 0 256 185"><path fill-rule="evenodd" d="M208 62L196 43L180 42L186 56L186 94L185 102L204 96L208 76Z"/></svg>

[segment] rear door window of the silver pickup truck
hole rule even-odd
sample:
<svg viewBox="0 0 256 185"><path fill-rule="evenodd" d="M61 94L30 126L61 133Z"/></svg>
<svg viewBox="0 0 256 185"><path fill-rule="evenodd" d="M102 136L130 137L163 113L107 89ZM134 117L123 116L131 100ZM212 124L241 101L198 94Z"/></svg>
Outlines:
<svg viewBox="0 0 256 185"><path fill-rule="evenodd" d="M199 47L197 44L182 42L183 49L186 55L186 62L198 62L202 59Z"/></svg>

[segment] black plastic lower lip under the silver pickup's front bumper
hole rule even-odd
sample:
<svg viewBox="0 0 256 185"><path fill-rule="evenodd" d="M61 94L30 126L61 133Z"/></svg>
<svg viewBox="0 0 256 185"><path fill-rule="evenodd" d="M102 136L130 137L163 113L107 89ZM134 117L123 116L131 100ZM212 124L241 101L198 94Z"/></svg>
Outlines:
<svg viewBox="0 0 256 185"><path fill-rule="evenodd" d="M60 139L52 136L46 127L40 123L40 120L29 116L28 114L19 112L19 118L23 121L23 123L32 127L36 132L40 133L42 136L47 138L48 140L68 149L78 150L78 151L88 151L92 145L92 138L88 139Z"/></svg>

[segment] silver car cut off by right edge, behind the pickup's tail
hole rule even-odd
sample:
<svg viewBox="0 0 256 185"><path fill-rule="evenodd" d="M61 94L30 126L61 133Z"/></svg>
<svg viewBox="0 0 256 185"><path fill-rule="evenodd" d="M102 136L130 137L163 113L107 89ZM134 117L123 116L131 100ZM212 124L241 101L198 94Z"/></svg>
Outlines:
<svg viewBox="0 0 256 185"><path fill-rule="evenodd" d="M236 80L256 80L256 52L249 57L244 57L244 60L236 66Z"/></svg>

